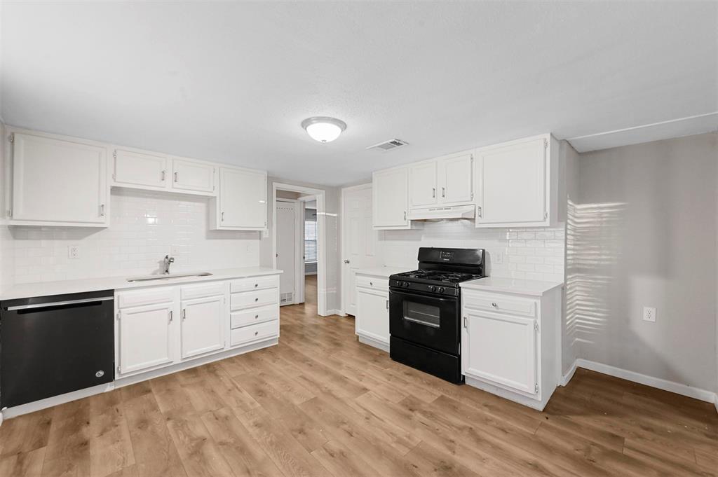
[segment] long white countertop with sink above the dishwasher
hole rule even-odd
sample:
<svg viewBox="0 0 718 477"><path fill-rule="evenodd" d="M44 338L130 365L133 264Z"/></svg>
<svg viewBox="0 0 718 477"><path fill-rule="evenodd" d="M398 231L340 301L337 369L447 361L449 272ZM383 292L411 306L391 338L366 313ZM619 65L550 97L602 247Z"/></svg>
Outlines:
<svg viewBox="0 0 718 477"><path fill-rule="evenodd" d="M82 293L98 290L126 290L128 288L146 288L152 286L175 285L177 283L199 283L213 280L229 280L231 278L258 277L262 275L277 275L282 270L267 267L222 268L220 270L198 270L209 272L207 277L167 278L164 280L149 280L129 282L129 277L87 278L85 280L62 280L57 282L21 283L0 293L0 300L14 298L28 298L31 296L62 295L64 293ZM177 272L192 273L192 272ZM137 275L134 275L137 276ZM157 275L160 276L160 275Z"/></svg>

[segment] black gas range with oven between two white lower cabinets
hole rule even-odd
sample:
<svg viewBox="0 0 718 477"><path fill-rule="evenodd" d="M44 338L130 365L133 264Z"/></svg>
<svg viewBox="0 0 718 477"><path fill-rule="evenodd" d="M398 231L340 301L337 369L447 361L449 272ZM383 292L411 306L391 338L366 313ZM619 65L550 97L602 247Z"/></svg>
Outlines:
<svg viewBox="0 0 718 477"><path fill-rule="evenodd" d="M459 284L484 276L483 249L419 248L419 270L389 277L391 359L464 382Z"/></svg>

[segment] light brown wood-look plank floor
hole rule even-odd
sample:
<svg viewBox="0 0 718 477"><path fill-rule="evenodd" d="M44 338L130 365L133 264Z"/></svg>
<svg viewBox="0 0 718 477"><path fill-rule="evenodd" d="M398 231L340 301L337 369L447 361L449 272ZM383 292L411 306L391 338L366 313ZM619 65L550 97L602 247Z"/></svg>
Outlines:
<svg viewBox="0 0 718 477"><path fill-rule="evenodd" d="M712 476L713 405L580 370L545 412L396 364L352 318L7 420L0 476Z"/></svg>

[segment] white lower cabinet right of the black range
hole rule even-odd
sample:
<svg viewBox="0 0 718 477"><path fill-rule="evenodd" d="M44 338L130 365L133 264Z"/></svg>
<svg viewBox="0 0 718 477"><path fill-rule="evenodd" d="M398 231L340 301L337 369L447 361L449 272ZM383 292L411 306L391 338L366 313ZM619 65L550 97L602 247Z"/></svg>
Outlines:
<svg viewBox="0 0 718 477"><path fill-rule="evenodd" d="M561 288L521 295L462 287L461 299L466 383L543 410L559 382Z"/></svg>

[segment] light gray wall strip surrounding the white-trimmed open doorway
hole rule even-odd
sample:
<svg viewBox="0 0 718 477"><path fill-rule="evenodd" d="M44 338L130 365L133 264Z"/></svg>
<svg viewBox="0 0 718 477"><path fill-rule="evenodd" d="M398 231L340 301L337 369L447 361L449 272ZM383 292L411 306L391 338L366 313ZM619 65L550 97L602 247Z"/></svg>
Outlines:
<svg viewBox="0 0 718 477"><path fill-rule="evenodd" d="M340 290L340 270L339 270L339 240L340 228L340 196L341 189L337 187L322 186L320 184L310 184L307 182L297 182L285 179L277 179L269 177L267 179L267 197L269 199L269 207L267 212L267 224L269 225L269 234L263 237L260 245L260 264L264 267L272 266L272 239L274 233L271 223L271 208L274 207L274 199L271 197L272 186L274 183L292 184L295 186L311 187L312 189L320 189L325 191L325 207L326 211L326 227L327 227L327 311L338 310L341 304Z"/></svg>

